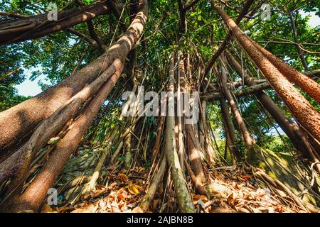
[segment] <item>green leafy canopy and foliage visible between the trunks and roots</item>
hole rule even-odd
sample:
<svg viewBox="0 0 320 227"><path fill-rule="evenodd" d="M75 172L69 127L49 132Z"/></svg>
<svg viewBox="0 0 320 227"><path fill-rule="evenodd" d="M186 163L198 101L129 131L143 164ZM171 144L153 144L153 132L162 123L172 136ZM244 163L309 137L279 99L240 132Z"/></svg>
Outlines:
<svg viewBox="0 0 320 227"><path fill-rule="evenodd" d="M49 2L4 0L0 5L0 11L36 15L38 13L45 13ZM67 0L55 1L58 9L62 9L65 6L68 6L66 9L73 9L78 6L76 2L72 4L69 4L69 2ZM95 1L84 0L83 2L85 4L92 4ZM119 2L124 3L125 1ZM234 9L240 10L244 2L244 0L228 1L228 4ZM282 58L282 60L297 70L304 71L295 45L272 43L272 41L294 42L292 27L287 13L299 9L294 11L299 42L302 43L306 50L311 52L319 51L319 46L304 45L304 43L320 43L320 26L311 28L308 25L309 17L302 18L301 15L302 11L311 12L319 9L319 1L270 0L267 2L272 6L273 10L270 21L262 21L259 16L261 10L258 10L254 18L247 23L240 23L240 27L242 30L247 31L247 34L255 41L260 42L267 50L274 53L274 55ZM225 8L225 11L232 18L238 16L238 12L232 9ZM316 14L320 15L319 10L316 11ZM124 11L123 18L129 24L129 12L127 10ZM6 19L8 18L1 18L1 20ZM193 9L186 13L186 20L187 32L181 35L178 32L180 18L177 1L149 1L148 23L146 28L144 28L143 37L139 45L137 45L137 65L139 66L137 72L139 76L145 76L143 85L149 90L159 91L159 89L163 88L164 82L167 79L169 55L173 50L188 52L191 55L191 70L194 74L197 74L198 66L206 66L206 62L210 60L210 57L218 49L228 33L220 16L213 10L210 1L199 1ZM100 36L107 46L114 42L114 40L117 40L117 37L122 33L121 28L117 26L117 19L112 14L95 18L93 23L97 35ZM114 33L116 27L117 31ZM81 23L75 26L74 29L85 35L89 35L86 23ZM242 57L243 62L246 62L247 70L250 71L253 77L263 78L263 75L257 72L256 67L250 63L245 52L240 50L236 42L230 43L229 49L237 53L239 57ZM92 62L100 53L94 47L88 45L85 40L65 31L47 35L36 40L27 40L22 43L0 47L0 111L4 111L28 99L28 97L18 96L14 88L14 86L21 84L26 79L26 70L37 67L39 70L33 72L31 79L37 79L41 74L44 74L46 76L46 84L41 84L41 87L42 89L47 89L50 85L61 82L66 77L69 77L76 65L78 65L82 55L83 60L80 62L78 69ZM309 64L310 70L320 68L319 55L306 53L306 61ZM18 68L20 70L9 74ZM241 79L234 72L230 72L229 76L233 81ZM216 82L215 74L210 75L210 82ZM119 84L127 84L127 80L121 77ZM287 116L290 116L289 111L277 94L272 89L266 92ZM302 94L320 111L320 105L316 101L304 92ZM261 111L261 105L254 96L245 96L238 99L238 104L242 116L245 118L247 125L250 126L250 133L252 133L260 145L271 150L281 151L287 149L286 146L289 144L287 137L284 136L285 140L283 141L279 140L279 137L271 135L271 132L274 131L274 120L267 116L265 111ZM106 135L110 133L110 129L114 128L117 124L123 123L118 121L120 106L121 101L117 97L112 103L102 107L100 114L96 117L95 123L87 133L87 138L90 138L92 143L103 143ZM225 135L218 101L208 103L207 116L213 130L212 133L217 137L218 146L220 150L223 150ZM153 130L147 138L148 141L152 141L156 137L156 119L151 117L146 118L146 125ZM237 134L240 138L238 131ZM239 146L242 150L244 149L243 143L239 143ZM228 158L230 157L228 156Z"/></svg>

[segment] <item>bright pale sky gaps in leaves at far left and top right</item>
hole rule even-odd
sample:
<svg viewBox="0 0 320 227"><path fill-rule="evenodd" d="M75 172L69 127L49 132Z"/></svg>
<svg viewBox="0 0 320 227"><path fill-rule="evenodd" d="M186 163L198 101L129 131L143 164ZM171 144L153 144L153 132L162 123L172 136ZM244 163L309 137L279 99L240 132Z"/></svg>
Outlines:
<svg viewBox="0 0 320 227"><path fill-rule="evenodd" d="M301 13L303 17L308 15L310 16L308 23L311 27L314 28L320 24L320 18L319 16L316 16L316 12L305 13L304 11L299 11L299 13ZM38 82L39 81L45 82L46 76L41 74L34 81L31 81L30 79L31 73L36 70L41 71L41 67L34 67L31 70L24 70L26 73L26 80L23 83L15 86L16 89L18 90L18 94L23 96L35 96L42 92L41 88L38 85Z"/></svg>

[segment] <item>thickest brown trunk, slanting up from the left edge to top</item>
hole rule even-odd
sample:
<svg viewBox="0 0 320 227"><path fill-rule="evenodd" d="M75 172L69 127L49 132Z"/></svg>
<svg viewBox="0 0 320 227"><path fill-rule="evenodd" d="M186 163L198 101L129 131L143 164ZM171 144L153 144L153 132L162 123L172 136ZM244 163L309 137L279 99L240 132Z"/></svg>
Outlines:
<svg viewBox="0 0 320 227"><path fill-rule="evenodd" d="M146 23L145 15L146 11L136 18L141 26L137 23L134 25L134 30L128 29L117 43L114 43L110 50L98 57L97 60L75 72L63 82L50 87L45 92L0 113L0 161L4 160L10 152L20 147L21 143L28 139L38 123L48 118L85 87L85 84L90 84L98 75L104 72L114 59L119 58L124 62L129 50L135 47L137 38L142 32L142 26ZM9 121L10 124L8 124Z"/></svg>

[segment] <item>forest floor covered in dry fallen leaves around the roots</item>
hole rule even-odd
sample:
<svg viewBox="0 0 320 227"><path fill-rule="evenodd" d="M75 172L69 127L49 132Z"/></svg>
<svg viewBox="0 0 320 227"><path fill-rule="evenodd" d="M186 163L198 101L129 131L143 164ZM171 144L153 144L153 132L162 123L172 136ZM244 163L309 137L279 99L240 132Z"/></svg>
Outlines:
<svg viewBox="0 0 320 227"><path fill-rule="evenodd" d="M42 212L54 213L108 213L143 212L139 202L145 194L151 172L136 166L125 170L118 160L114 165L106 165L98 179L99 184L90 194L81 194L85 183L95 170L100 148L82 145L65 166L57 184L58 206L44 204ZM252 171L237 167L223 167L216 164L208 167L208 185L212 198L191 192L193 204L201 213L283 213L302 212L291 198L279 196L270 185L257 179ZM191 179L187 178L189 188ZM210 182L210 183L209 183ZM271 191L270 191L271 189ZM165 196L164 196L165 195ZM177 211L174 194L166 187L159 187L149 212Z"/></svg>

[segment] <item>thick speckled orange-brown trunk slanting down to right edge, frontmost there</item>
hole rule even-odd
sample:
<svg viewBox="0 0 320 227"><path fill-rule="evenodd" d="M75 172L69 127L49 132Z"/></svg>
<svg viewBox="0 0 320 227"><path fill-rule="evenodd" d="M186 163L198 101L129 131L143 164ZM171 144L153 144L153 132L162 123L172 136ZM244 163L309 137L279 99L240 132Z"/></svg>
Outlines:
<svg viewBox="0 0 320 227"><path fill-rule="evenodd" d="M292 115L296 120L306 128L311 135L316 138L316 140L320 141L320 114L316 109L314 109L311 104L300 94L297 89L293 87L293 85L289 82L289 80L284 77L282 71L284 68L280 68L272 65L272 62L281 62L280 60L274 60L270 62L265 55L260 52L255 45L252 45L252 41L250 38L243 33L240 28L235 24L235 22L228 17L225 12L220 9L217 4L213 4L215 9L218 11L220 16L223 18L223 21L227 23L230 30L233 31L235 37L238 39L242 48L245 49L250 58L255 62L257 67L260 68L262 73L267 78L268 82L270 82L271 86L274 90L279 94L285 104L287 104L289 110L292 112ZM288 66L289 67L289 66ZM289 67L290 68L290 67ZM302 82L302 84L304 84ZM316 89L314 87L314 89ZM320 90L317 90L317 93Z"/></svg>

